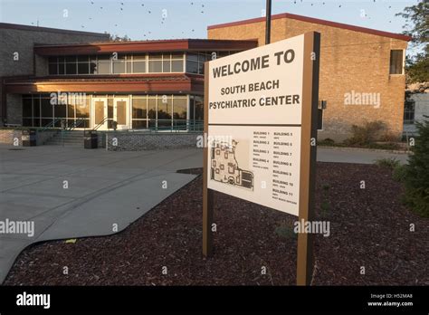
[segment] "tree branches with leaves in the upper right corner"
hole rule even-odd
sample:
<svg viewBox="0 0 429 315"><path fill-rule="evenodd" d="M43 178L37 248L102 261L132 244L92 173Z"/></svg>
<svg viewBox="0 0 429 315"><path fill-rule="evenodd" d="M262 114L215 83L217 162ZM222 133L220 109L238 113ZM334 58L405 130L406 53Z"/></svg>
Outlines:
<svg viewBox="0 0 429 315"><path fill-rule="evenodd" d="M417 5L407 6L404 12L396 14L405 18L404 33L412 37L411 43L419 51L405 60L407 83L429 81L429 4L420 1Z"/></svg>

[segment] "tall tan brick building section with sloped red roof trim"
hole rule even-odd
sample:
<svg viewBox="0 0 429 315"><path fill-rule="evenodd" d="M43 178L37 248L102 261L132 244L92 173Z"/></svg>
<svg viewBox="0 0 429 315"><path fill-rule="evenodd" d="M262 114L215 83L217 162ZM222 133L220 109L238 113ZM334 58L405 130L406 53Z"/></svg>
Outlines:
<svg viewBox="0 0 429 315"><path fill-rule="evenodd" d="M389 133L403 131L405 49L409 36L295 14L272 15L272 42L321 33L319 100L327 100L319 138L344 139L352 124L382 120ZM265 18L207 29L209 39L257 40L264 44Z"/></svg>

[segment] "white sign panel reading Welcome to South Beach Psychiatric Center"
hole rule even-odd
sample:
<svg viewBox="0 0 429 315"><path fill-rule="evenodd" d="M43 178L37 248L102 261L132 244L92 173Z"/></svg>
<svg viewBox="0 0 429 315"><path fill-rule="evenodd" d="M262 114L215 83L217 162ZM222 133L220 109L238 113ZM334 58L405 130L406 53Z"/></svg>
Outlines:
<svg viewBox="0 0 429 315"><path fill-rule="evenodd" d="M209 189L299 213L304 36L209 62Z"/></svg>

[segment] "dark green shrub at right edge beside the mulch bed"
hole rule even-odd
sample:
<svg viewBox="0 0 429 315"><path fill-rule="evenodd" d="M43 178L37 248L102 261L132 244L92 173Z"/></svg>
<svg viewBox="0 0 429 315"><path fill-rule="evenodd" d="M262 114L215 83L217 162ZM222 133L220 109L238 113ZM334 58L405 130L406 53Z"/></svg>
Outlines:
<svg viewBox="0 0 429 315"><path fill-rule="evenodd" d="M405 203L416 214L429 217L429 120L416 125L414 154L405 173Z"/></svg>

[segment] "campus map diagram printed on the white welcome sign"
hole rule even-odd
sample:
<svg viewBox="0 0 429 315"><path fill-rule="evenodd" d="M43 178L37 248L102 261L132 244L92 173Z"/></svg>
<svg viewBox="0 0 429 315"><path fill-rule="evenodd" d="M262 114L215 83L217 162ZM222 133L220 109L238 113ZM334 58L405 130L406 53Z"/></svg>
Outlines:
<svg viewBox="0 0 429 315"><path fill-rule="evenodd" d="M235 157L237 141L232 144L216 141L210 152L212 167L211 179L233 185L242 186L253 190L253 173L243 170Z"/></svg>

